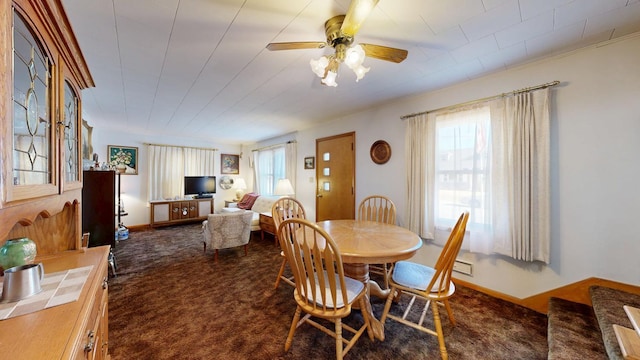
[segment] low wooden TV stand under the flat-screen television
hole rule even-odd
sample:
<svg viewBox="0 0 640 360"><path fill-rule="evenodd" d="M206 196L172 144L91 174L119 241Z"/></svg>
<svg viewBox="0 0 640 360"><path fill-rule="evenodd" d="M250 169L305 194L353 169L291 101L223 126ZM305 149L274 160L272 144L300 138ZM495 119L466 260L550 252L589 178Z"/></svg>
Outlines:
<svg viewBox="0 0 640 360"><path fill-rule="evenodd" d="M151 226L204 221L213 211L213 199L151 201Z"/></svg>

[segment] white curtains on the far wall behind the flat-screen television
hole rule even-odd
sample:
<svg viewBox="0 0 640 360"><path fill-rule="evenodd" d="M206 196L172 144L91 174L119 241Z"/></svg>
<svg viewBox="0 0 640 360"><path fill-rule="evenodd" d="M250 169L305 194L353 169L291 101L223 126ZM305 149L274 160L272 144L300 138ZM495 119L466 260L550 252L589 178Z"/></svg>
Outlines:
<svg viewBox="0 0 640 360"><path fill-rule="evenodd" d="M185 175L214 175L215 150L149 145L149 200L184 196Z"/></svg>

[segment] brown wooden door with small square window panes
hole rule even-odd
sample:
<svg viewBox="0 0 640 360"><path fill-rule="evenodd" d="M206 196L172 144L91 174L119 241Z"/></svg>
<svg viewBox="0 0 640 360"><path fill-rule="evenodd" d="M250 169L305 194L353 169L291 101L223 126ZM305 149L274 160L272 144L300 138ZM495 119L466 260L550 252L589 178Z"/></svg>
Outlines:
<svg viewBox="0 0 640 360"><path fill-rule="evenodd" d="M355 219L354 132L316 140L316 221Z"/></svg>

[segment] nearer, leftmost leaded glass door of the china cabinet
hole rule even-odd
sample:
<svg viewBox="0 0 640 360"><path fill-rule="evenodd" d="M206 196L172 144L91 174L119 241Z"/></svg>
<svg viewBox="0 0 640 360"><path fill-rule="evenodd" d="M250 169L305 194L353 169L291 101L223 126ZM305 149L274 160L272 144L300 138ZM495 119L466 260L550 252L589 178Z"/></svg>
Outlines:
<svg viewBox="0 0 640 360"><path fill-rule="evenodd" d="M15 11L13 24L13 126L7 201L58 192L52 127L53 62Z"/></svg>

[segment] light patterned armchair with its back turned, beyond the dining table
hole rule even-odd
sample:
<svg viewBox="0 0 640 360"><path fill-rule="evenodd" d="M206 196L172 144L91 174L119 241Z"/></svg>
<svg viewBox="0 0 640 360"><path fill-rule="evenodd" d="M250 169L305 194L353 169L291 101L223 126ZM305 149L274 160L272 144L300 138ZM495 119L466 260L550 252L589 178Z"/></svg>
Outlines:
<svg viewBox="0 0 640 360"><path fill-rule="evenodd" d="M252 211L209 214L207 220L202 222L203 251L206 253L207 245L214 249L216 263L218 262L219 249L244 246L244 255L246 256L251 238L252 217Z"/></svg>

